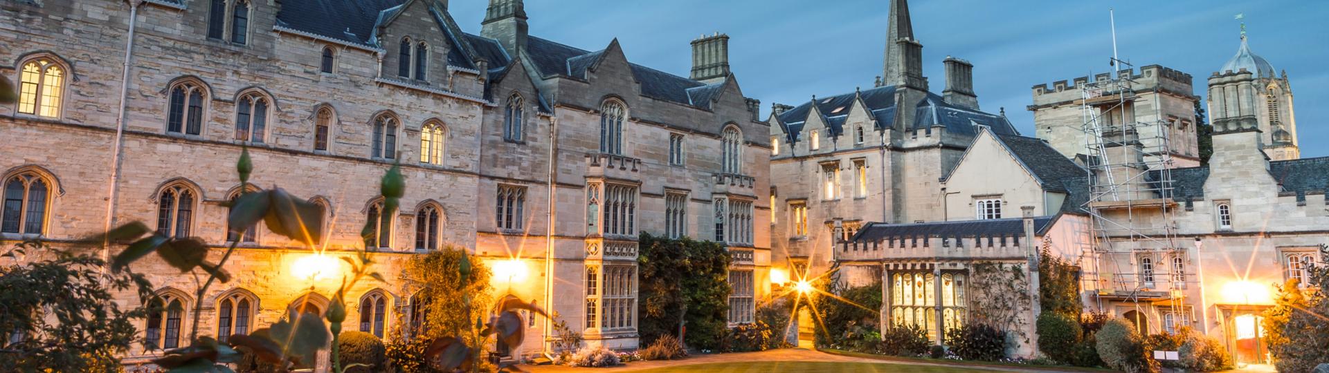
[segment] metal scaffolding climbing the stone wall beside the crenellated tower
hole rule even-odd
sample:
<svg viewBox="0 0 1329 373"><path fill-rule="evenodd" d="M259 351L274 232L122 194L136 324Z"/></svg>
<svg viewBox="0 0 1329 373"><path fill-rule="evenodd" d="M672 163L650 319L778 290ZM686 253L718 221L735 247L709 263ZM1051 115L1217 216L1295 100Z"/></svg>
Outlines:
<svg viewBox="0 0 1329 373"><path fill-rule="evenodd" d="M1091 263L1082 265L1082 279L1090 285L1086 288L1096 289L1094 303L1100 312L1106 311L1104 300L1115 300L1134 304L1140 315L1163 305L1174 313L1174 323L1193 320L1185 312L1184 289L1196 281L1183 269L1185 248L1172 219L1177 204L1172 199L1171 125L1162 114L1159 94L1136 82L1131 64L1118 58L1115 25L1112 33L1112 74L1080 88L1087 153L1082 159L1087 200L1080 207L1090 215L1091 232ZM1152 115L1136 112L1150 106ZM1130 265L1122 268L1127 255ZM1166 275L1160 268L1167 268Z"/></svg>

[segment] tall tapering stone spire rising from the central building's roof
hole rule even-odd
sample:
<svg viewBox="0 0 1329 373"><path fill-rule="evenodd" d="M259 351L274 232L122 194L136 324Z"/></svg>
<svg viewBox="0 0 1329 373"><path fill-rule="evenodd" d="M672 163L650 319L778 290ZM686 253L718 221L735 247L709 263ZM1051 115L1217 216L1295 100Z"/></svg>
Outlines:
<svg viewBox="0 0 1329 373"><path fill-rule="evenodd" d="M913 36L913 21L909 20L909 1L890 0L890 15L886 24L886 48L882 58L882 85L922 86L922 44Z"/></svg>

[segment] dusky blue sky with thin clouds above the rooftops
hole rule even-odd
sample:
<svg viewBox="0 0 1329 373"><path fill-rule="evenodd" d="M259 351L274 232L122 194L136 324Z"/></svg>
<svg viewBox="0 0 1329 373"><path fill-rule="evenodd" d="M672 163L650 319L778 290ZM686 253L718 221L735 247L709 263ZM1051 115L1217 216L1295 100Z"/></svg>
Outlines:
<svg viewBox="0 0 1329 373"><path fill-rule="evenodd" d="M730 35L730 65L748 97L801 104L872 86L881 74L885 0L526 0L530 32L589 50L614 37L633 62L687 76L688 42ZM451 12L478 33L486 1L452 0ZM1251 49L1286 70L1302 157L1329 157L1329 1L912 1L914 36L933 92L941 60L974 64L982 109L1006 108L1033 134L1030 88L1108 72L1107 9L1116 9L1118 49L1136 66L1163 65L1195 77L1195 93L1236 53L1245 13ZM764 114L763 114L764 117Z"/></svg>

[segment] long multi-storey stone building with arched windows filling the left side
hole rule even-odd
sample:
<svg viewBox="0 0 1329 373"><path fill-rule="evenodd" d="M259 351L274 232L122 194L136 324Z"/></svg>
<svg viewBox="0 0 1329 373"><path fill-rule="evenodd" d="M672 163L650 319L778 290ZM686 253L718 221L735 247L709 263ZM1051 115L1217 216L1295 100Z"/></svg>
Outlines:
<svg viewBox="0 0 1329 373"><path fill-rule="evenodd" d="M327 309L340 276L307 269L360 250L396 162L407 194L369 248L389 281L352 289L347 331L409 327L420 300L397 273L444 246L502 265L497 292L611 348L637 345L638 232L724 242L731 323L751 321L764 291L769 234L754 222L768 214L769 130L727 36L694 41L680 77L630 64L617 40L590 52L530 36L520 0L490 1L480 35L445 0L8 1L0 17L0 74L21 89L0 106L0 243L60 246L132 220L215 244L213 261L239 240L235 279L203 299L191 276L136 264L166 303L202 304L199 335ZM322 247L227 234L242 146L255 187L326 207ZM140 328L174 346L191 321L166 312ZM512 356L542 349L526 338Z"/></svg>

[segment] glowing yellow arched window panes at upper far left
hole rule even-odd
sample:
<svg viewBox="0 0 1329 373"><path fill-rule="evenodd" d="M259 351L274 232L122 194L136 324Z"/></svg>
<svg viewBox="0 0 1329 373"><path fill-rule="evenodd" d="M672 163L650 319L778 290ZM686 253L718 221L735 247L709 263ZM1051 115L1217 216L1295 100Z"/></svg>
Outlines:
<svg viewBox="0 0 1329 373"><path fill-rule="evenodd" d="M19 113L58 118L65 97L65 66L39 57L23 62L19 74Z"/></svg>

